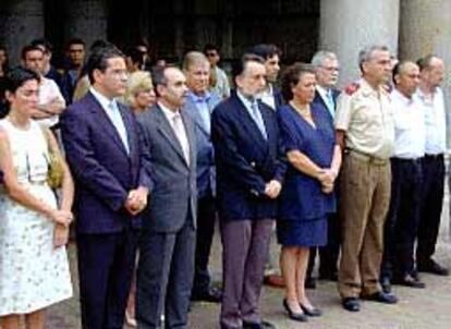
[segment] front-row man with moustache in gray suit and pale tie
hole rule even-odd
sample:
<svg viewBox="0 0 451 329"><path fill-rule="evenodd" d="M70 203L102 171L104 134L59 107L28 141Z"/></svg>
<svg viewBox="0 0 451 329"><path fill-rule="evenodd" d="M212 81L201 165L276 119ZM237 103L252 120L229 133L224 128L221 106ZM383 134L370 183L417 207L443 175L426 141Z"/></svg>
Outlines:
<svg viewBox="0 0 451 329"><path fill-rule="evenodd" d="M154 76L157 105L138 117L151 150L154 193L143 218L137 269L138 328L187 328L194 276L196 228L196 147L194 126L180 109L186 100L185 76L162 68Z"/></svg>

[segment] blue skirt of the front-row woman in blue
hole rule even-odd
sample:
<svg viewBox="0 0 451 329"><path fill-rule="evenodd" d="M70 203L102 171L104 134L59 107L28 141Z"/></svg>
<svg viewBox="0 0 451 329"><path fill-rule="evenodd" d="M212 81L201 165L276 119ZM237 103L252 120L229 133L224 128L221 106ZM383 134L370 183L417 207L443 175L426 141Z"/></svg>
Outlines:
<svg viewBox="0 0 451 329"><path fill-rule="evenodd" d="M283 246L327 245L327 217L310 221L277 221L277 240Z"/></svg>

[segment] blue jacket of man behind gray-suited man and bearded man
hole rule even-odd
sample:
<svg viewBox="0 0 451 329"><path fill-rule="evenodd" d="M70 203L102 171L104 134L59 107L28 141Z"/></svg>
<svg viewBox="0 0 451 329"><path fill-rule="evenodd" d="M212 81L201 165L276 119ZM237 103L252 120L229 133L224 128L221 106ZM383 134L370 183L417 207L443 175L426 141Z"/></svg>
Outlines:
<svg viewBox="0 0 451 329"><path fill-rule="evenodd" d="M207 106L212 112L214 108L221 102L221 97L216 93L210 93ZM211 143L211 133L205 125L199 109L191 97L187 98L182 111L187 113L194 122L197 148L197 195L205 197L209 194L216 195L216 167L215 151Z"/></svg>

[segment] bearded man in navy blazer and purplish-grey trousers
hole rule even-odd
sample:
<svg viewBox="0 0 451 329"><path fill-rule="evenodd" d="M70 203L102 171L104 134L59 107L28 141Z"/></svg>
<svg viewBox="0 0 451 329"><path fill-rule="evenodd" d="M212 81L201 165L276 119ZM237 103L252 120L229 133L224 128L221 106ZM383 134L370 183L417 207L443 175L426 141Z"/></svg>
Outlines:
<svg viewBox="0 0 451 329"><path fill-rule="evenodd" d="M217 193L223 245L221 328L273 328L258 313L269 236L287 166L276 112L256 96L265 87L264 60L236 63L236 92L212 112Z"/></svg>

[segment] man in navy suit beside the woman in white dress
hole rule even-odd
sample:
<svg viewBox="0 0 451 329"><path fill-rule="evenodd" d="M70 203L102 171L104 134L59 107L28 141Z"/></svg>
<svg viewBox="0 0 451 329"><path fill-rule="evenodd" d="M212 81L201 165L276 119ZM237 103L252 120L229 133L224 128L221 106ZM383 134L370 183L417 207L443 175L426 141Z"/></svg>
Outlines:
<svg viewBox="0 0 451 329"><path fill-rule="evenodd" d="M125 93L123 54L92 53L92 88L64 112L61 132L75 179L82 324L122 328L135 265L139 217L151 180L148 154L132 112L115 101Z"/></svg>

